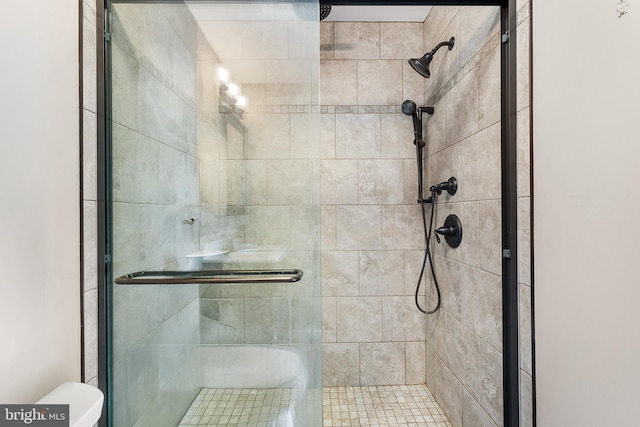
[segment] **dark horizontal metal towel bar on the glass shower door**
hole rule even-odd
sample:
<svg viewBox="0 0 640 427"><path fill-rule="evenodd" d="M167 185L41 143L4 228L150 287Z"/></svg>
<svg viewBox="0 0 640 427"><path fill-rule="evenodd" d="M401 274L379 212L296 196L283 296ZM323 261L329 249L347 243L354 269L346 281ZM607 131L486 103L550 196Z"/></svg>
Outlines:
<svg viewBox="0 0 640 427"><path fill-rule="evenodd" d="M293 283L302 270L138 271L118 277L118 285L187 285L207 283Z"/></svg>

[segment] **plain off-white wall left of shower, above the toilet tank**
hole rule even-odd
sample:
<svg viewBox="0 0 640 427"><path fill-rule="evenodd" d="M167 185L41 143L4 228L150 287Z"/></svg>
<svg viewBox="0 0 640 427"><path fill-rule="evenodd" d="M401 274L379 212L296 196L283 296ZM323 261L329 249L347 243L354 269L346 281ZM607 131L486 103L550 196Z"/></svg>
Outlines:
<svg viewBox="0 0 640 427"><path fill-rule="evenodd" d="M77 0L0 14L0 402L80 379Z"/></svg>

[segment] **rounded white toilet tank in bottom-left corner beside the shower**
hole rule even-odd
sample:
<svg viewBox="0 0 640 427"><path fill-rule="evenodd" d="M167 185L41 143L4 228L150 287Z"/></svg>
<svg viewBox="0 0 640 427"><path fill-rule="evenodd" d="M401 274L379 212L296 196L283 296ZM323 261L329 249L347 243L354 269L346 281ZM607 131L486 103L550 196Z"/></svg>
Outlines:
<svg viewBox="0 0 640 427"><path fill-rule="evenodd" d="M92 427L100 419L104 396L100 390L83 383L64 383L36 404L69 405L69 427Z"/></svg>

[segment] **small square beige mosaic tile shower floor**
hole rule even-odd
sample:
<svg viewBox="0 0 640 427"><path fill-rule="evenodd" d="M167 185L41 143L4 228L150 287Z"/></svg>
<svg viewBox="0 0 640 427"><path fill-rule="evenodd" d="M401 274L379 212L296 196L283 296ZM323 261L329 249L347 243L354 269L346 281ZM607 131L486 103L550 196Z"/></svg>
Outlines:
<svg viewBox="0 0 640 427"><path fill-rule="evenodd" d="M324 427L451 427L424 385L325 387ZM289 389L203 388L180 422L187 426L289 427Z"/></svg>

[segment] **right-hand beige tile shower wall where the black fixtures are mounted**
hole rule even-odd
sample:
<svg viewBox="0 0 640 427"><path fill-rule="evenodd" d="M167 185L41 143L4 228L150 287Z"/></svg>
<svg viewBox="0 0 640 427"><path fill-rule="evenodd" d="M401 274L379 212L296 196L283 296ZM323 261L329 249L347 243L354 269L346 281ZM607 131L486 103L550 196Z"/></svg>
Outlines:
<svg viewBox="0 0 640 427"><path fill-rule="evenodd" d="M427 317L426 381L454 426L503 425L500 12L434 7L424 24L438 51L426 98L427 182L455 176L458 192L439 197L436 224L460 217L461 245L435 244L442 308ZM429 278L428 300L435 301Z"/></svg>

